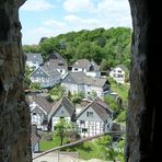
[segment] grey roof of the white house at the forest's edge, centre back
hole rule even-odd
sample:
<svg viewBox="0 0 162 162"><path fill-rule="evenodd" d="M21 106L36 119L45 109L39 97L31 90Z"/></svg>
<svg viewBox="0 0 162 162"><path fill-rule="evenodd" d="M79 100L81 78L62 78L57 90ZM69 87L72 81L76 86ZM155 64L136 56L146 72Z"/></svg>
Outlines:
<svg viewBox="0 0 162 162"><path fill-rule="evenodd" d="M91 69L91 71L99 71L100 66L96 65L94 60L89 61L88 59L79 59L77 60L73 66L73 68L82 68L86 69L88 71ZM91 68L90 68L91 67ZM92 68L93 67L93 68Z"/></svg>

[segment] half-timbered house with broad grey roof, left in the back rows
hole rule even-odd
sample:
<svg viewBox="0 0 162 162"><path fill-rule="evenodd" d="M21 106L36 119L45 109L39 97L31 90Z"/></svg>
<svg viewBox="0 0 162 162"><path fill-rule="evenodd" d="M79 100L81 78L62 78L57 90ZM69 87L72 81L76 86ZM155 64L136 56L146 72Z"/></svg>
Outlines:
<svg viewBox="0 0 162 162"><path fill-rule="evenodd" d="M42 88L53 88L60 83L61 74L54 68L53 62L49 60L35 69L31 73L30 79L34 83L39 83Z"/></svg>

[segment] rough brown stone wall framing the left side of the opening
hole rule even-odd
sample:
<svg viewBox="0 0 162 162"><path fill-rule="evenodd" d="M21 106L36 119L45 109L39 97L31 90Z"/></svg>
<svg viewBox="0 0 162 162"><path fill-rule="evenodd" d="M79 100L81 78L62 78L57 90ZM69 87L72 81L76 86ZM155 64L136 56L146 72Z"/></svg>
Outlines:
<svg viewBox="0 0 162 162"><path fill-rule="evenodd" d="M24 55L19 8L0 1L0 162L30 162L30 112L23 92Z"/></svg>

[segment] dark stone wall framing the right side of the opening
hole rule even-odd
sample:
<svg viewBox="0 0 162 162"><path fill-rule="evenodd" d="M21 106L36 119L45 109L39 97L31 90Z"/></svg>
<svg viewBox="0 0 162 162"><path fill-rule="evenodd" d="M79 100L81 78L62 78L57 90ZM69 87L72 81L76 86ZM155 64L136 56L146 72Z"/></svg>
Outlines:
<svg viewBox="0 0 162 162"><path fill-rule="evenodd" d="M160 2L129 0L132 15L132 61L127 117L126 161L149 162L160 157L162 132L162 37Z"/></svg>

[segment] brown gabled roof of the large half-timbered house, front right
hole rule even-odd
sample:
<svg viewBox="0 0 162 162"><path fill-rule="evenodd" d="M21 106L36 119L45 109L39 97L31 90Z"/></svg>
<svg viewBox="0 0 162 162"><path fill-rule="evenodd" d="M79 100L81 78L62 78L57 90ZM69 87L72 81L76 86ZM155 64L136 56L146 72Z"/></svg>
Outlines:
<svg viewBox="0 0 162 162"><path fill-rule="evenodd" d="M101 104L99 104L96 101L92 101L88 106L85 106L80 114L77 116L77 118L79 116L81 116L86 109L89 109L90 107L92 107L94 109L94 112L101 117L101 119L103 121L105 121L109 116L113 115L113 111L105 108L104 106L102 106Z"/></svg>

